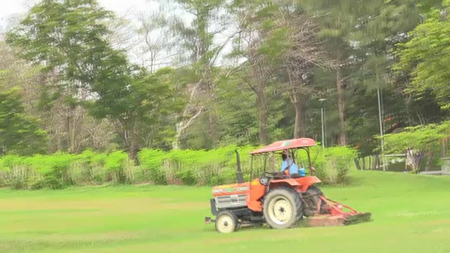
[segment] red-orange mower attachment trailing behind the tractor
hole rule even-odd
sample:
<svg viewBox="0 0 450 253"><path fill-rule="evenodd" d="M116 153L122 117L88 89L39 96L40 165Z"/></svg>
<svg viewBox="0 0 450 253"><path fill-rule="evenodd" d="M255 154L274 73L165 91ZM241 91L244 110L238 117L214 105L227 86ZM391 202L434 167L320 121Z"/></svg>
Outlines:
<svg viewBox="0 0 450 253"><path fill-rule="evenodd" d="M348 226L356 223L372 221L372 214L370 212L357 212L352 207L342 205L339 202L324 197L323 195L320 197L320 202L322 201L326 202L326 214L316 214L309 217L309 226ZM321 203L319 203L319 207L321 206L320 204ZM349 212L344 212L343 208L349 209Z"/></svg>

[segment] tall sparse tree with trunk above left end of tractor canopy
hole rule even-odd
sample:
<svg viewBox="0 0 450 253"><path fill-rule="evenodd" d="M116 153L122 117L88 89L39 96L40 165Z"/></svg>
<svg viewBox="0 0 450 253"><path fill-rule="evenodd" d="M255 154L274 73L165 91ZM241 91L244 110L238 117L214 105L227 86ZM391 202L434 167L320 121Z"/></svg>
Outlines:
<svg viewBox="0 0 450 253"><path fill-rule="evenodd" d="M274 84L281 67L281 56L287 47L281 38L286 37L285 27L275 27L274 14L278 6L266 1L235 1L230 12L239 27L238 37L233 41L231 58L241 61L238 75L243 83L255 93L260 144L268 144L270 109L274 98L280 98L280 89Z"/></svg>

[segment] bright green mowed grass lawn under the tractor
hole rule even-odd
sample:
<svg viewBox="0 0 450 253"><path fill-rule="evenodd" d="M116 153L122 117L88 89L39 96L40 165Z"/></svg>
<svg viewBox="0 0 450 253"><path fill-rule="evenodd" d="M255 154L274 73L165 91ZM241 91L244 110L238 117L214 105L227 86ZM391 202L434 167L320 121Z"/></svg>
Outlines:
<svg viewBox="0 0 450 253"><path fill-rule="evenodd" d="M370 223L228 235L203 222L210 188L0 190L0 252L450 252L450 177L352 177L352 186L322 190L372 212Z"/></svg>

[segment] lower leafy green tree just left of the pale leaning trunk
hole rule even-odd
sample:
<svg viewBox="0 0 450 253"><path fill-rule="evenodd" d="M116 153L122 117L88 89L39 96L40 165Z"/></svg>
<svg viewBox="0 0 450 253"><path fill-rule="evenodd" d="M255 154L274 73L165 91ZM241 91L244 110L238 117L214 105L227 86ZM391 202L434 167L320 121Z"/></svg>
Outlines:
<svg viewBox="0 0 450 253"><path fill-rule="evenodd" d="M140 148L153 148L158 134L167 134L167 117L179 110L172 80L168 79L174 71L163 68L148 74L143 67L128 65L120 53L103 52L109 61L105 60L92 84L99 99L91 100L88 106L96 117L114 122L122 147L136 160Z"/></svg>

